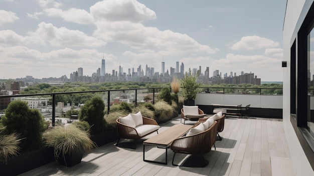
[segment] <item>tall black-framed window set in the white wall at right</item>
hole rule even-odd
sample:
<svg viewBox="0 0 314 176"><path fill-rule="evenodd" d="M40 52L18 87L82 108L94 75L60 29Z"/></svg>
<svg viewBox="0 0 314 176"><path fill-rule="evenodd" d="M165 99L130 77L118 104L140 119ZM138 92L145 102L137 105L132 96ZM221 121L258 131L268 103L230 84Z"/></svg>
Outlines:
<svg viewBox="0 0 314 176"><path fill-rule="evenodd" d="M310 165L314 169L314 3L311 3L309 10L306 11L307 10L302 11L300 15L300 18L302 18L302 14L306 14L304 19L299 19L298 23L300 23L301 26L299 29L296 29L296 43L293 42L291 45L290 111L291 117L293 117L295 106L296 114L294 116L296 118L294 119L296 119L296 121L291 120L291 124ZM294 48L296 48L296 50L294 50ZM294 53L295 51L297 51L296 55ZM296 72L293 70L292 65L295 56L297 65ZM296 73L296 76L294 73ZM293 76L296 77L295 87L293 87ZM296 92L295 96L293 92ZM293 101L293 97L296 97L295 101ZM294 104L294 102L296 103Z"/></svg>

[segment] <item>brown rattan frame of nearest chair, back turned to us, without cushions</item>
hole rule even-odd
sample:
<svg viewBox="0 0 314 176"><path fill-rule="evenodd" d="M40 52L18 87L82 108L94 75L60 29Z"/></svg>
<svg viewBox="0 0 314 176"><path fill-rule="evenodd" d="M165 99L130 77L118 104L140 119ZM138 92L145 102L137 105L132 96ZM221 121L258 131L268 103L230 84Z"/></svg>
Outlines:
<svg viewBox="0 0 314 176"><path fill-rule="evenodd" d="M197 126L198 124L199 123L197 122L193 127ZM203 132L190 136L179 137L174 140L170 146L173 152L175 152L172 164L178 166L174 163L176 153L184 153L200 155L204 162L203 167L205 167L208 164L208 161L204 159L203 154L211 151L212 146L215 144L216 131L217 121L214 121L214 124Z"/></svg>

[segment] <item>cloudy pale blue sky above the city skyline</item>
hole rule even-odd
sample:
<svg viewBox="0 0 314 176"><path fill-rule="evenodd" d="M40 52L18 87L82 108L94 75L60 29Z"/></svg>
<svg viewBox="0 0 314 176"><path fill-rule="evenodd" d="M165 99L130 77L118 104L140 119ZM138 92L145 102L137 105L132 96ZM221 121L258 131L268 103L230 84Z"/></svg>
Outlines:
<svg viewBox="0 0 314 176"><path fill-rule="evenodd" d="M0 79L209 67L282 81L286 0L1 0ZM145 70L144 70L145 71Z"/></svg>

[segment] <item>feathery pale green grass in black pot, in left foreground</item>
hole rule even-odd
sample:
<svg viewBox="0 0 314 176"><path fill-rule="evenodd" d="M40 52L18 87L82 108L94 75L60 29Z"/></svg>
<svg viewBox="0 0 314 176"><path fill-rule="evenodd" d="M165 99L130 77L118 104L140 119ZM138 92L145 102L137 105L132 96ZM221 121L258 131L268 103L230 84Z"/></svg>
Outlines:
<svg viewBox="0 0 314 176"><path fill-rule="evenodd" d="M54 148L55 159L69 167L80 163L84 152L96 147L90 139L89 130L72 124L47 130L43 138L48 147Z"/></svg>

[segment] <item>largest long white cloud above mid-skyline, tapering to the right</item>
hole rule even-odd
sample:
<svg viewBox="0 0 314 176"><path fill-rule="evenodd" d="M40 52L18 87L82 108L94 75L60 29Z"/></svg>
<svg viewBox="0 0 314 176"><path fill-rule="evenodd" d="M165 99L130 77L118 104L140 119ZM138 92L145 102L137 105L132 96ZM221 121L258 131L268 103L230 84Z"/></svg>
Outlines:
<svg viewBox="0 0 314 176"><path fill-rule="evenodd" d="M205 53L213 54L217 49L201 45L186 34L170 30L160 31L157 28L144 27L139 23L130 22L96 22L97 30L94 36L104 41L117 41L140 53L146 50L167 52L168 55Z"/></svg>

